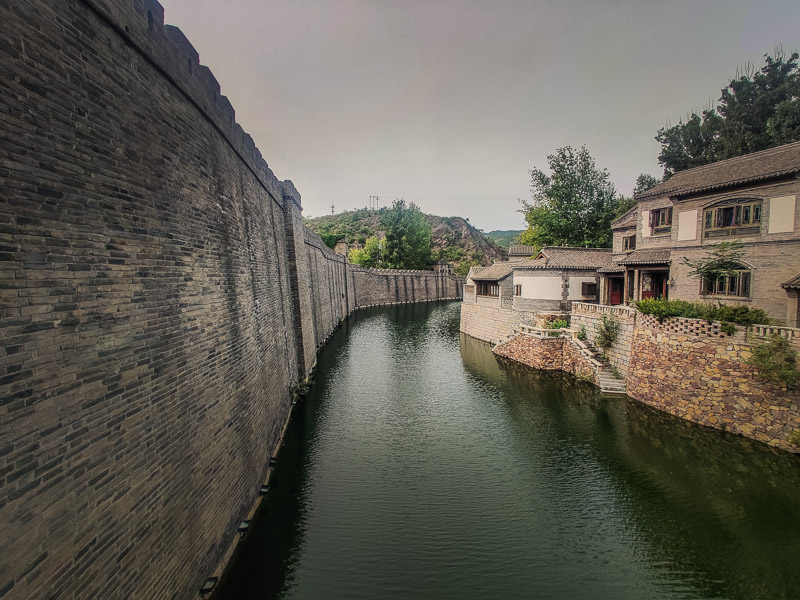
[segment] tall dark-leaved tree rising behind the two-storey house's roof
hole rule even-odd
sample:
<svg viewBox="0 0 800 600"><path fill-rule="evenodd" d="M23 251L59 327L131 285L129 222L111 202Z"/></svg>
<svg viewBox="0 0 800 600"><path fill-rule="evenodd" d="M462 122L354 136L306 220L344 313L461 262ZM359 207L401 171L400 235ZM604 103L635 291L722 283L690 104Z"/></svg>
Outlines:
<svg viewBox="0 0 800 600"><path fill-rule="evenodd" d="M716 109L658 130L664 176L800 140L798 53L764 56L764 66L737 72Z"/></svg>

